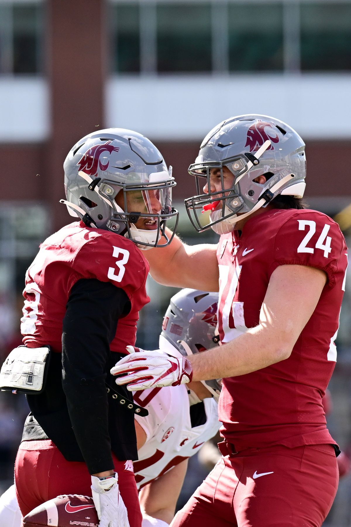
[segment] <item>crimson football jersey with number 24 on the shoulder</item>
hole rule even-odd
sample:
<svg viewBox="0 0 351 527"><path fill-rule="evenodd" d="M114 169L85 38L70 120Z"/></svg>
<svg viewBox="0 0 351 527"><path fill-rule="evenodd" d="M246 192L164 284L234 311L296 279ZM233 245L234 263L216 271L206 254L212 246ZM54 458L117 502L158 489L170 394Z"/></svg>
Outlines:
<svg viewBox="0 0 351 527"><path fill-rule="evenodd" d="M315 267L328 277L289 358L223 379L222 435L237 450L335 443L321 398L336 362L334 340L345 290L347 249L337 223L314 210L270 209L250 218L240 237L237 231L221 236L217 258L221 343L259 324L268 282L278 266Z"/></svg>

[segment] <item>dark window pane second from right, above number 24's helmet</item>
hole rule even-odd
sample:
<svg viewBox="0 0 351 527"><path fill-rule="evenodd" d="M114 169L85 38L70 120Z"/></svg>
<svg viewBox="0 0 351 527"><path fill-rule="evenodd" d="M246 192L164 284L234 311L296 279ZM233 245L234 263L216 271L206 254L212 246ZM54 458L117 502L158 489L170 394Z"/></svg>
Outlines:
<svg viewBox="0 0 351 527"><path fill-rule="evenodd" d="M229 70L283 67L282 5L229 4Z"/></svg>

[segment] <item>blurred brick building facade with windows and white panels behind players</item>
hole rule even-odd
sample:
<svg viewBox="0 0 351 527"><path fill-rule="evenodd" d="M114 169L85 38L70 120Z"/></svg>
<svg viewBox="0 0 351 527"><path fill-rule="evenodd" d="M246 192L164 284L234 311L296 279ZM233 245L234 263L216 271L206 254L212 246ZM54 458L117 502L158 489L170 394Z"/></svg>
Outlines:
<svg viewBox="0 0 351 527"><path fill-rule="evenodd" d="M70 220L62 165L86 133L153 140L184 218L204 135L277 116L306 141L307 201L334 216L351 199L350 93L351 0L0 0L0 302Z"/></svg>

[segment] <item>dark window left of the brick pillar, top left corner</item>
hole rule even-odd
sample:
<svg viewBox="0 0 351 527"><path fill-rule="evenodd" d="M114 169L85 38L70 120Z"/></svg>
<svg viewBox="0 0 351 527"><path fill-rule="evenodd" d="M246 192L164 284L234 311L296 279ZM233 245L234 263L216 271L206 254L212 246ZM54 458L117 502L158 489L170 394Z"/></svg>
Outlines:
<svg viewBox="0 0 351 527"><path fill-rule="evenodd" d="M42 71L41 3L0 4L0 73Z"/></svg>

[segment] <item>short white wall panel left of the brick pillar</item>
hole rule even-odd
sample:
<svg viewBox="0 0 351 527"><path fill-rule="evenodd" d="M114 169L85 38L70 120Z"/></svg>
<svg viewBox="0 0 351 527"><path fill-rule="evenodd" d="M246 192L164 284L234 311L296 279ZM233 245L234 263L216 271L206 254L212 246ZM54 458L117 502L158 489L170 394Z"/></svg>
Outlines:
<svg viewBox="0 0 351 527"><path fill-rule="evenodd" d="M0 76L0 142L37 142L50 133L47 82L37 76Z"/></svg>

